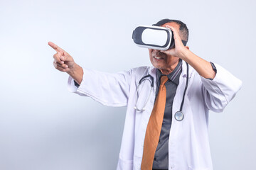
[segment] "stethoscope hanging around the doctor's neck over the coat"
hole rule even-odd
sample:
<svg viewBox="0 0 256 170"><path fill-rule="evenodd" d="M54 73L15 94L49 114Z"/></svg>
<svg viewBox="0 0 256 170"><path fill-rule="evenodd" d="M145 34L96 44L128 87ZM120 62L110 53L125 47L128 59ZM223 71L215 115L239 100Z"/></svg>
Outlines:
<svg viewBox="0 0 256 170"><path fill-rule="evenodd" d="M184 92L183 92L183 98L182 98L182 101L181 101L181 107L180 107L180 110L177 111L174 115L174 118L177 120L177 121L181 121L183 120L184 118L184 114L182 113L182 108L183 108L183 103L184 103L184 100L185 100L185 94L186 94L186 90L188 89L188 63L186 63L186 66L187 66L187 77L186 77L186 86L185 86L185 89L184 89ZM149 77L149 79L148 79ZM137 91L136 91L136 94L138 94L138 90L139 90L139 86L142 84L142 81L150 81L151 83L151 89L150 89L150 92L149 92L149 96L148 98L146 98L146 103L144 104L144 106L142 108L138 108L137 106L137 101L138 101L138 97L135 99L135 106L134 106L134 109L136 111L145 111L146 110L146 104L149 103L149 98L151 96L151 93L153 91L153 88L154 88L154 77L152 77L151 75L146 75L144 77L142 77L142 79L139 80L139 84L137 86ZM138 94L139 95L139 94Z"/></svg>

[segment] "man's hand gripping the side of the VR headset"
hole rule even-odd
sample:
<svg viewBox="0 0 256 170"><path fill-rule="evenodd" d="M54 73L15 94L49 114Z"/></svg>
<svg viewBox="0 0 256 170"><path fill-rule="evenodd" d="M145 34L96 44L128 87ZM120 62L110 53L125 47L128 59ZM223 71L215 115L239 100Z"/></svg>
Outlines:
<svg viewBox="0 0 256 170"><path fill-rule="evenodd" d="M175 41L175 47L171 48L170 50L166 50L166 51L162 51L163 53L165 53L166 55L172 55L174 57L179 57L181 59L183 59L183 55L184 55L184 51L185 50L189 50L188 46L184 46L182 41L181 41L181 37L178 35L178 30L176 30L174 27L172 26L166 26L166 28L170 28L173 33L174 33L174 41Z"/></svg>

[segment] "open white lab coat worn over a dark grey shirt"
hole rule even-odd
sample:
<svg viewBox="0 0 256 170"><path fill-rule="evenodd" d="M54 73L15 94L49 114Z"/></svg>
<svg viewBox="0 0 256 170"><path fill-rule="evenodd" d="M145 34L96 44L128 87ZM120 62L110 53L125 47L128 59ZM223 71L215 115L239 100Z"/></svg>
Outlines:
<svg viewBox="0 0 256 170"><path fill-rule="evenodd" d="M189 66L188 89L183 104L184 119L178 122L174 113L179 111L186 85L186 63L174 97L172 123L169 136L169 169L213 169L208 141L208 111L222 112L241 88L242 82L230 72L215 64L217 74L213 80L201 77ZM68 79L70 91L90 96L105 106L127 106L127 114L119 152L117 169L137 170L142 163L146 125L149 121L156 94L156 68L138 67L128 72L108 74L83 69L84 76L79 88ZM135 111L135 96L139 80L150 74L154 77L154 91L146 105L146 111ZM142 108L149 96L150 81L139 87L137 106Z"/></svg>

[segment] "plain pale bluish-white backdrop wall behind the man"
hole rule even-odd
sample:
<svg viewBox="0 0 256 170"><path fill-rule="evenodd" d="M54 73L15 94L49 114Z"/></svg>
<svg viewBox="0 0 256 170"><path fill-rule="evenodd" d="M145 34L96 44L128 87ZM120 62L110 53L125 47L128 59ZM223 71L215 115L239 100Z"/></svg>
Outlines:
<svg viewBox="0 0 256 170"><path fill-rule="evenodd" d="M256 169L255 7L244 1L0 0L0 169L116 169L126 108L67 90L53 41L82 67L151 65L132 30L183 21L188 46L243 81L224 113L210 113L214 169Z"/></svg>

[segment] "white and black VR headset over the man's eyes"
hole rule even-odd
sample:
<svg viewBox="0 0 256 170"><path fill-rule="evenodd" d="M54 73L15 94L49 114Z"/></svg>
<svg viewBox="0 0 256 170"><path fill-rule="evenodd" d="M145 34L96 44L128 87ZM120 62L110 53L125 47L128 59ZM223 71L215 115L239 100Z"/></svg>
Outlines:
<svg viewBox="0 0 256 170"><path fill-rule="evenodd" d="M155 50L169 50L175 47L174 33L160 26L139 26L132 33L132 39L139 47ZM184 46L187 41L182 40Z"/></svg>

